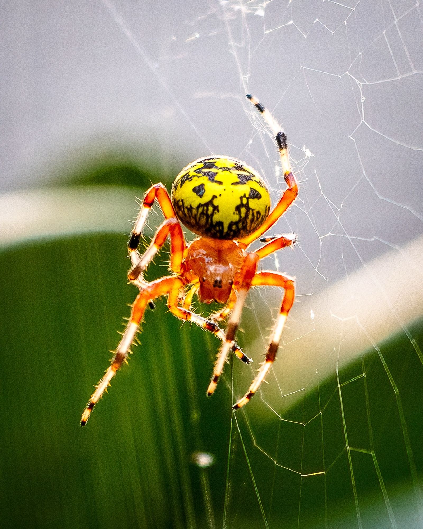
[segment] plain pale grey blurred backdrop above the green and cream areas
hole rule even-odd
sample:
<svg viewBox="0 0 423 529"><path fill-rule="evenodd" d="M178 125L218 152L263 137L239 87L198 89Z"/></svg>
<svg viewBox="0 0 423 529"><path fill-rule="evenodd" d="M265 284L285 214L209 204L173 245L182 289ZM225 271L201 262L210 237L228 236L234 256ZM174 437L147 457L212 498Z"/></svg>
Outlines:
<svg viewBox="0 0 423 529"><path fill-rule="evenodd" d="M309 295L423 232L421 20L407 0L4 2L1 190L113 150L163 167L213 152L275 200L251 92L291 143L300 198L277 230L300 248L279 266Z"/></svg>

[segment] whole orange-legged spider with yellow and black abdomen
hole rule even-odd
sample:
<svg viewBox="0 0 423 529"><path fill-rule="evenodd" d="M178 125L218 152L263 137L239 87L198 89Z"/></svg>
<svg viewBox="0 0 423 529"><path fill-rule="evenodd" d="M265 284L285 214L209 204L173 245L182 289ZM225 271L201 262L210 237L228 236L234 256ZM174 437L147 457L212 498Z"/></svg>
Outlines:
<svg viewBox="0 0 423 529"><path fill-rule="evenodd" d="M207 395L211 396L229 351L232 350L245 363L252 361L235 343L235 333L249 289L256 286L282 287L282 304L265 359L260 364L247 393L233 405L234 410L249 402L272 366L283 327L294 302L295 280L279 272L258 271L258 262L276 250L295 244L296 236L270 236L260 239L260 242L266 244L258 250L249 253L246 249L286 212L297 197L298 184L290 167L286 135L258 99L250 94L246 97L275 134L288 188L270 212L270 195L262 177L244 162L227 156L199 158L191 162L174 180L171 196L161 183L150 187L144 196L128 242L131 258L128 279L139 288L139 294L132 305L130 320L112 358L111 366L99 381L82 414L81 426L87 423L91 411L116 371L126 362L145 309L149 305L153 307L153 300L159 296L167 296L169 311L177 318L203 327L222 341L212 380L207 389ZM155 199L165 220L149 247L141 255L138 246L143 226ZM180 223L199 235L199 238L187 245ZM168 235L171 245L171 275L146 282L143 272ZM209 318L200 316L191 311L195 294L202 303L215 301L224 304L224 307ZM228 322L224 332L216 322L226 318Z"/></svg>

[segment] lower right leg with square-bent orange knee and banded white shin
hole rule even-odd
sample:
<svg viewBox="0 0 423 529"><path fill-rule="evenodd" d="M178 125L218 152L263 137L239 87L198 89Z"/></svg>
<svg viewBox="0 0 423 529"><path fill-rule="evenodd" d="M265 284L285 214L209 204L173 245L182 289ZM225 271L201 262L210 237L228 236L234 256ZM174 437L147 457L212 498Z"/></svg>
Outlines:
<svg viewBox="0 0 423 529"><path fill-rule="evenodd" d="M272 363L276 359L276 354L279 348L279 342L282 336L283 327L287 321L288 313L291 310L291 307L295 298L295 280L292 277L284 276L281 273L277 272L260 272L257 273L252 282L251 286L275 286L282 287L285 289L285 293L282 299L282 305L277 317L273 332L270 338L270 344L268 351L266 353L266 358L262 362L261 367L255 376L254 380L251 382L251 386L247 393L242 397L236 404L232 406L232 409L239 409L245 406L247 402L254 396L258 390L260 384L263 382L265 376L267 375L269 369L272 366Z"/></svg>

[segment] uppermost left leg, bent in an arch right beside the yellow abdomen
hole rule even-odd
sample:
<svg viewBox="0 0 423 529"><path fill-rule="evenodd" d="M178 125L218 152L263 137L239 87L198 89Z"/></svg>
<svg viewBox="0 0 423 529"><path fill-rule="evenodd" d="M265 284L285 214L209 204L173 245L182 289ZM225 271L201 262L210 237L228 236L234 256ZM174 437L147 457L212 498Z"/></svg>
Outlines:
<svg viewBox="0 0 423 529"><path fill-rule="evenodd" d="M146 221L146 218L150 212L150 209L154 203L154 199L157 198L157 201L159 203L159 206L161 207L161 210L163 212L163 215L166 219L174 218L176 219L176 214L172 206L172 202L169 196L168 191L163 186L163 184L154 184L150 187L150 189L145 193L140 211L138 213L138 216L136 217L134 227L131 231L131 238L128 242L128 252L131 258L132 268L134 269L138 262L141 259L140 253L138 252L138 245L140 243L141 234L143 231L143 227ZM177 232L171 232L170 234L171 240L173 238L179 237L181 239L179 245L182 245L185 249L185 239L183 238L183 233L177 234ZM179 263L180 265L180 263ZM174 262L174 266L178 266L178 259ZM171 268L174 272L178 273L179 270L173 269L172 262L171 262Z"/></svg>

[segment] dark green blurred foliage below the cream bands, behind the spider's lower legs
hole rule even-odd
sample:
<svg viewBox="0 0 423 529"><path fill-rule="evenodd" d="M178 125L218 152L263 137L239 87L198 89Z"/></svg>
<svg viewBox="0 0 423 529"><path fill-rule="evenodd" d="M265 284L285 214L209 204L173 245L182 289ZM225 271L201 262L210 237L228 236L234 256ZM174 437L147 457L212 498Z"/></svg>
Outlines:
<svg viewBox="0 0 423 529"><path fill-rule="evenodd" d="M363 527L393 516L419 526L423 372L403 334L381 344L397 395L373 350L339 373L342 407L334 376L283 420L259 395L233 414L232 385L241 394L250 367L231 361L207 399L219 343L159 301L80 428L136 295L125 254L126 237L112 234L0 253L2 527L356 527L354 495ZM153 276L165 273L159 261ZM411 331L421 347L422 323ZM362 450L350 452L355 491L345 432ZM200 469L196 451L215 464Z"/></svg>

